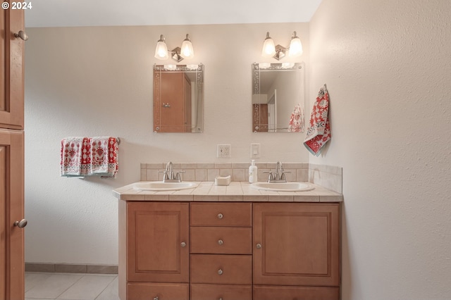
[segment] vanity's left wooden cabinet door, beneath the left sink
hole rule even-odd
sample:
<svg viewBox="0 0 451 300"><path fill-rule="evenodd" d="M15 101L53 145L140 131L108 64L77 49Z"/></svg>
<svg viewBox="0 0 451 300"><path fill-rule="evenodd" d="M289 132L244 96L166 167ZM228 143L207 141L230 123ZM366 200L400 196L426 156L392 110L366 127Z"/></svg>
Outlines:
<svg viewBox="0 0 451 300"><path fill-rule="evenodd" d="M128 203L128 282L188 282L188 226L187 203Z"/></svg>

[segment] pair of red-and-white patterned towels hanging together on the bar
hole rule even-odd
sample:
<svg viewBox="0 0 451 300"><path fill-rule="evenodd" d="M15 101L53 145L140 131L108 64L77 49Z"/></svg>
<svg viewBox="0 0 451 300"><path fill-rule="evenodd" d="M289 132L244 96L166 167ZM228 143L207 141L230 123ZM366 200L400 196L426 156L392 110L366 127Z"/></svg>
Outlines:
<svg viewBox="0 0 451 300"><path fill-rule="evenodd" d="M116 137L66 137L61 140L61 176L114 177L118 172Z"/></svg>

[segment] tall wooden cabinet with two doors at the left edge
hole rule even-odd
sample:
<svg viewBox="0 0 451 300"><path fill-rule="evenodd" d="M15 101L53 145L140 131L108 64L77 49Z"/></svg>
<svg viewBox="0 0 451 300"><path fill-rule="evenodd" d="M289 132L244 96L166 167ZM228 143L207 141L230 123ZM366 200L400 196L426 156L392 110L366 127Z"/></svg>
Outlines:
<svg viewBox="0 0 451 300"><path fill-rule="evenodd" d="M11 1L6 1L11 3ZM0 10L0 300L25 298L22 10ZM16 223L16 221L21 221Z"/></svg>

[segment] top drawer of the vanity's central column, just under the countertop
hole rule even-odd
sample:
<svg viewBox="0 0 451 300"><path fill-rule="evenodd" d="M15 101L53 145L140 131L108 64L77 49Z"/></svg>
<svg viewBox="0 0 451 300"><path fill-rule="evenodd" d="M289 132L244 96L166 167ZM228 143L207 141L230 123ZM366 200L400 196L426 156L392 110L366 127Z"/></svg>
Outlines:
<svg viewBox="0 0 451 300"><path fill-rule="evenodd" d="M192 203L192 226L252 226L251 203Z"/></svg>

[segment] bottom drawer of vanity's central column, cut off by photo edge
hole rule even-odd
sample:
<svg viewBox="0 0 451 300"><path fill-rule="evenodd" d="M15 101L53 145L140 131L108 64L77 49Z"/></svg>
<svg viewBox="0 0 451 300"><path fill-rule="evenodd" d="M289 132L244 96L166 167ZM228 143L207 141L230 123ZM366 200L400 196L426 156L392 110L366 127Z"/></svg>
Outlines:
<svg viewBox="0 0 451 300"><path fill-rule="evenodd" d="M191 300L252 300L251 285L191 285Z"/></svg>

